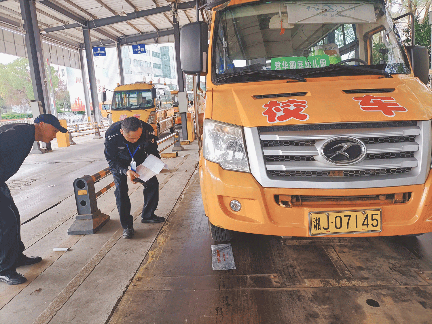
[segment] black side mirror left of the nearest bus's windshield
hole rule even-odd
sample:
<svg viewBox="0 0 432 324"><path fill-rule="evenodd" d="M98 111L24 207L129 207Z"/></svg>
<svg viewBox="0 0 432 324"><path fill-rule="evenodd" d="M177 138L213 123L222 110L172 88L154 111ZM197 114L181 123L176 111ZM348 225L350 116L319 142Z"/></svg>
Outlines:
<svg viewBox="0 0 432 324"><path fill-rule="evenodd" d="M181 70L186 74L206 75L209 51L208 25L206 22L191 22L180 30Z"/></svg>

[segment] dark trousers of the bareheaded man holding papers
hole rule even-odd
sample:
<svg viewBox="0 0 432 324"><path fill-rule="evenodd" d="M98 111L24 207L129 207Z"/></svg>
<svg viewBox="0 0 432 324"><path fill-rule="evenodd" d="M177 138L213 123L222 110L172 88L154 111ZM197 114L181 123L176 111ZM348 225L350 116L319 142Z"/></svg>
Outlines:
<svg viewBox="0 0 432 324"><path fill-rule="evenodd" d="M133 226L133 216L130 215L130 199L127 194L129 191L127 181L129 179L126 175L119 175L118 173L113 173L112 176L115 183L114 195L118 214L120 215L121 227L123 229L131 228ZM150 178L143 186L144 206L141 218L152 219L159 203L159 182L156 175Z"/></svg>

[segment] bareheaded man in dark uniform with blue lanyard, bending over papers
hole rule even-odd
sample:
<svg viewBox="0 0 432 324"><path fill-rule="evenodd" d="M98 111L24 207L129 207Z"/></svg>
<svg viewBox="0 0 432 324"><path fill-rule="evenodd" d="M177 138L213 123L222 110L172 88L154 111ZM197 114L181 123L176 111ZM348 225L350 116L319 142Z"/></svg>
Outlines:
<svg viewBox="0 0 432 324"><path fill-rule="evenodd" d="M149 154L160 159L153 127L136 117L128 117L112 124L105 133L105 158L114 177L117 203L123 237L133 235L133 216L130 215L130 199L127 194L127 179L133 184L139 175L128 167L140 165ZM132 163L132 164L131 164ZM155 215L159 203L159 182L156 176L143 183L144 206L142 223L164 222L164 217Z"/></svg>

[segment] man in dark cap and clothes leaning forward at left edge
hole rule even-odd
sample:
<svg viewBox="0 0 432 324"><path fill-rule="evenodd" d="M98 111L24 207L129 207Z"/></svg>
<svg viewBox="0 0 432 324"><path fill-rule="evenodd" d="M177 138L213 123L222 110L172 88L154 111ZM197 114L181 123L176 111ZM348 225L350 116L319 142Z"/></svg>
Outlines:
<svg viewBox="0 0 432 324"><path fill-rule="evenodd" d="M22 252L21 219L5 183L29 155L33 142L48 143L57 132L67 133L51 114L41 114L34 124L6 124L0 127L0 282L17 285L26 281L16 267L35 264L41 257L27 257Z"/></svg>

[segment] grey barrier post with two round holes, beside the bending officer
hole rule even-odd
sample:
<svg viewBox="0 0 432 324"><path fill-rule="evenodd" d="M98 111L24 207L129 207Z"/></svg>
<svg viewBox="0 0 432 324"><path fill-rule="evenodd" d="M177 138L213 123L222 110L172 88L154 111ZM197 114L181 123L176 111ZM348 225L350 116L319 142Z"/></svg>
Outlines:
<svg viewBox="0 0 432 324"><path fill-rule="evenodd" d="M93 177L84 175L82 178L75 179L73 190L78 215L75 217L75 222L67 230L67 234L94 234L110 220L110 217L98 209Z"/></svg>

